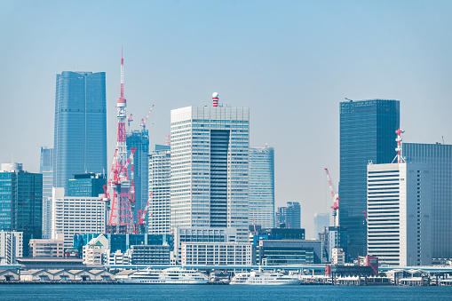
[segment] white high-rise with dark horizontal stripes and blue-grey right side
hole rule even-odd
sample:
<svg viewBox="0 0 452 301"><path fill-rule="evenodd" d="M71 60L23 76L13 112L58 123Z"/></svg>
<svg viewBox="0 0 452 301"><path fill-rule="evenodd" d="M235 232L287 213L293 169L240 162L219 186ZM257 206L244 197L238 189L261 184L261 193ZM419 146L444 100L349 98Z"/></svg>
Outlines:
<svg viewBox="0 0 452 301"><path fill-rule="evenodd" d="M368 165L368 254L385 265L431 265L430 165Z"/></svg>

